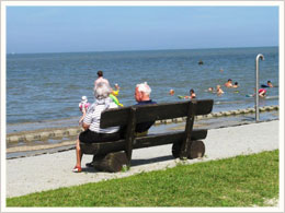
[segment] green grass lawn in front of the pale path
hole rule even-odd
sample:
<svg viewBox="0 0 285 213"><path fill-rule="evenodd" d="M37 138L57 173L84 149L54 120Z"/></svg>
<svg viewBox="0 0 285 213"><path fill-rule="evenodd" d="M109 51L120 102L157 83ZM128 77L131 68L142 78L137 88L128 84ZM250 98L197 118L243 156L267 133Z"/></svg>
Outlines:
<svg viewBox="0 0 285 213"><path fill-rule="evenodd" d="M263 206L272 198L278 151L10 198L7 206Z"/></svg>

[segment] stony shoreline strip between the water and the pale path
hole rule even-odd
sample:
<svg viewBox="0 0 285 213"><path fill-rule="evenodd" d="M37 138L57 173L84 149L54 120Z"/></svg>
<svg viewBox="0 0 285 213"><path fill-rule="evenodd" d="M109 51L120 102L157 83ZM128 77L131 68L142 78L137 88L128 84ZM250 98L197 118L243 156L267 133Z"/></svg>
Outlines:
<svg viewBox="0 0 285 213"><path fill-rule="evenodd" d="M261 107L260 110L262 113L261 121L278 119L278 106ZM248 125L254 122L254 109L246 108L240 110L212 113L206 116L197 116L195 120L195 129L218 129ZM183 123L183 118L157 120L149 133L158 133L164 129L169 131L182 130L184 128ZM76 143L75 141L80 132L81 128L78 126L8 133L7 158L53 153L55 150L57 152L70 150Z"/></svg>

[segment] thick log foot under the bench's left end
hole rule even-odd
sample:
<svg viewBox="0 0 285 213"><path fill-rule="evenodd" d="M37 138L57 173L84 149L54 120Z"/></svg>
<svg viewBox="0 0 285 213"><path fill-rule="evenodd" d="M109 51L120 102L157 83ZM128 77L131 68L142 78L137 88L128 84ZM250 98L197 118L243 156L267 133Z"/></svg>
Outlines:
<svg viewBox="0 0 285 213"><path fill-rule="evenodd" d="M105 156L95 156L93 161L96 170L109 173L121 171L123 165L128 164L125 152L114 152Z"/></svg>

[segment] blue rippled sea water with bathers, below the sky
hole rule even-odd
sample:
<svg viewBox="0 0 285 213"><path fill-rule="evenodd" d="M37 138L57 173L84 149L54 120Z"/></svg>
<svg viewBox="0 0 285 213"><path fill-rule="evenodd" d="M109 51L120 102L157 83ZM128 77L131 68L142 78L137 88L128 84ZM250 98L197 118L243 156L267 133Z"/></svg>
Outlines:
<svg viewBox="0 0 285 213"><path fill-rule="evenodd" d="M260 61L260 83L271 80L278 85L277 47L7 55L7 122L79 118L81 96L94 100L98 70L112 85L121 86L118 99L124 106L135 104L136 84L148 82L158 103L183 102L178 95L194 88L198 99L215 100L214 111L253 107L254 98L246 95L254 92L258 54L265 58ZM226 88L228 79L240 87ZM206 92L217 84L225 94ZM175 91L173 96L168 94L170 88ZM278 87L267 88L267 98L260 105L277 104Z"/></svg>

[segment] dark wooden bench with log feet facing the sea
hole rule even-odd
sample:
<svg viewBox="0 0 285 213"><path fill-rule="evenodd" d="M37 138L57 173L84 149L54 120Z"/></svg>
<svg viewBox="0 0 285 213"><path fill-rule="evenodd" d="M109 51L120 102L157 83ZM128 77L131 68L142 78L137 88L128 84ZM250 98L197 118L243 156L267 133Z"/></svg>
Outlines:
<svg viewBox="0 0 285 213"><path fill-rule="evenodd" d="M206 129L193 130L194 117L212 111L214 100L201 99L170 104L135 105L109 109L101 115L101 128L125 127L122 140L80 143L83 154L92 154L94 168L104 171L119 171L123 165L130 166L134 149L150 147L172 143L173 157L196 158L205 153L202 141L207 135ZM186 117L185 130L136 137L137 123Z"/></svg>

